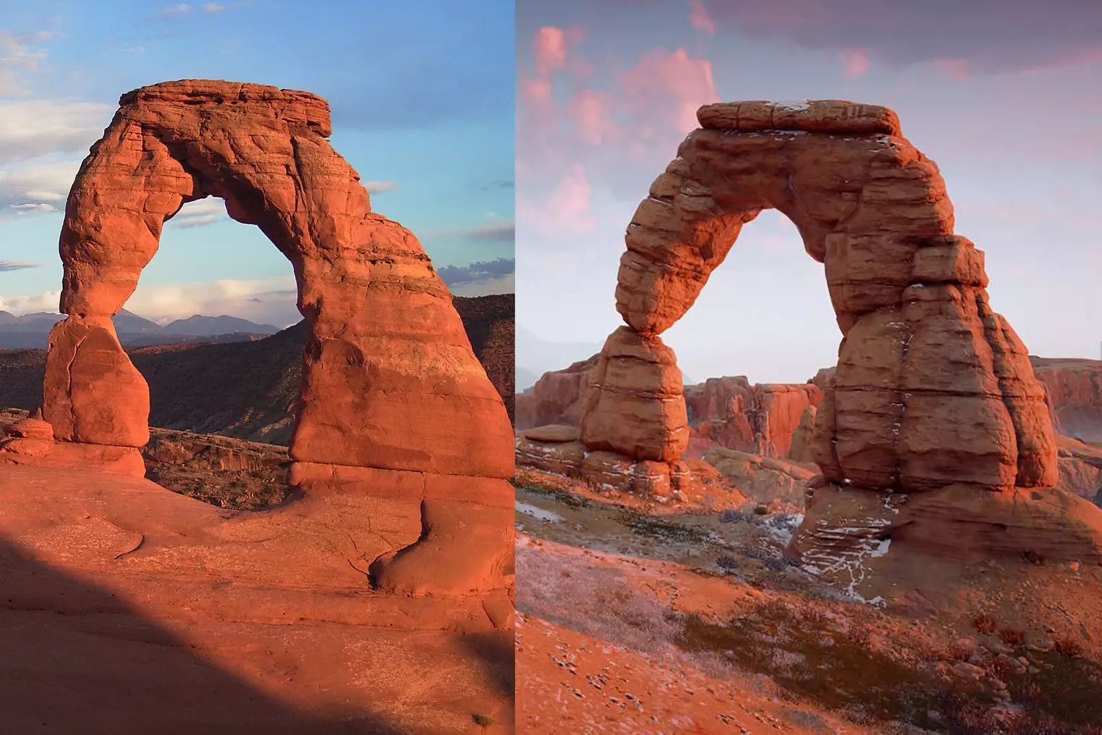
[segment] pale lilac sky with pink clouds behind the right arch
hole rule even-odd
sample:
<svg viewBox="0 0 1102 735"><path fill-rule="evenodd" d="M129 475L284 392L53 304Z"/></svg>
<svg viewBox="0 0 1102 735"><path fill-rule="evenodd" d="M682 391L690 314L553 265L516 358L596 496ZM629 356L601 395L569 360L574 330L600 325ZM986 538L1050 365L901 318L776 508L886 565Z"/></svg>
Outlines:
<svg viewBox="0 0 1102 735"><path fill-rule="evenodd" d="M620 324L625 227L699 105L850 99L895 109L938 163L1030 352L1100 357L1102 3L520 0L516 43L519 328ZM663 338L696 380L803 381L841 338L822 270L763 213Z"/></svg>

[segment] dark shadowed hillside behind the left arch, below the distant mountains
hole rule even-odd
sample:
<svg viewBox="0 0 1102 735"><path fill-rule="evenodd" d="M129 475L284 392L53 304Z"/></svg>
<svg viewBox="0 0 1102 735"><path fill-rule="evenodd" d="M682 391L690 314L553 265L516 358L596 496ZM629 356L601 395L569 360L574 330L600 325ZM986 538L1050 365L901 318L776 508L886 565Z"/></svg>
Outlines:
<svg viewBox="0 0 1102 735"><path fill-rule="evenodd" d="M467 336L512 415L512 294L456 298ZM130 348L150 424L285 445L302 380L304 323L256 342ZM42 403L45 350L0 350L0 406Z"/></svg>

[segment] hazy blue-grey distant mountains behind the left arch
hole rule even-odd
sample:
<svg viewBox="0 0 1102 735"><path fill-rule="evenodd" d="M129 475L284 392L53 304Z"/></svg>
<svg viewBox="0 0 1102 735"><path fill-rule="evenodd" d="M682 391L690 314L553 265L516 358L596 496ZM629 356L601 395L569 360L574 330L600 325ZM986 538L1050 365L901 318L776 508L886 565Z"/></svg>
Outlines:
<svg viewBox="0 0 1102 735"><path fill-rule="evenodd" d="M15 316L0 311L0 349L44 349L54 325L64 314L36 312ZM251 342L279 332L271 324L256 324L236 316L195 314L161 326L156 322L120 310L111 321L119 342L128 346L170 345L193 342Z"/></svg>

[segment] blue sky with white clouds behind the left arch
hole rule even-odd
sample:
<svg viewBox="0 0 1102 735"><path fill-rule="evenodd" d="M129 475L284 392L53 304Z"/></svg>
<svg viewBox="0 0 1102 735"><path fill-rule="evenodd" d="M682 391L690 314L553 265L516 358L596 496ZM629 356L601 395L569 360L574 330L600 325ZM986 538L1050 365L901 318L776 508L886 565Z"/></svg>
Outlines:
<svg viewBox="0 0 1102 735"><path fill-rule="evenodd" d="M180 78L325 97L329 140L372 209L418 236L456 294L511 292L512 8L0 0L0 309L56 311L61 210L80 160L121 94ZM299 318L293 288L263 235L205 199L165 225L127 307L282 326Z"/></svg>

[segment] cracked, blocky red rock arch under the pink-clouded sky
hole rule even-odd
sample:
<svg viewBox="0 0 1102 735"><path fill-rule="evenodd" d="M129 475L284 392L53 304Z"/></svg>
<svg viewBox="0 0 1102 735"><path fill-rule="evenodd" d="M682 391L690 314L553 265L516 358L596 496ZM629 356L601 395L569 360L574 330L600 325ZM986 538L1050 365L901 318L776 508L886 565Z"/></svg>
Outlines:
<svg viewBox="0 0 1102 735"><path fill-rule="evenodd" d="M771 207L824 263L842 329L817 419L827 479L905 491L1054 485L1052 426L1026 349L992 312L983 252L953 235L938 167L895 112L733 102L698 116L701 129L628 225L616 285L627 326L602 353L582 441L635 460L681 456L680 374L658 335L692 306L743 225Z"/></svg>

